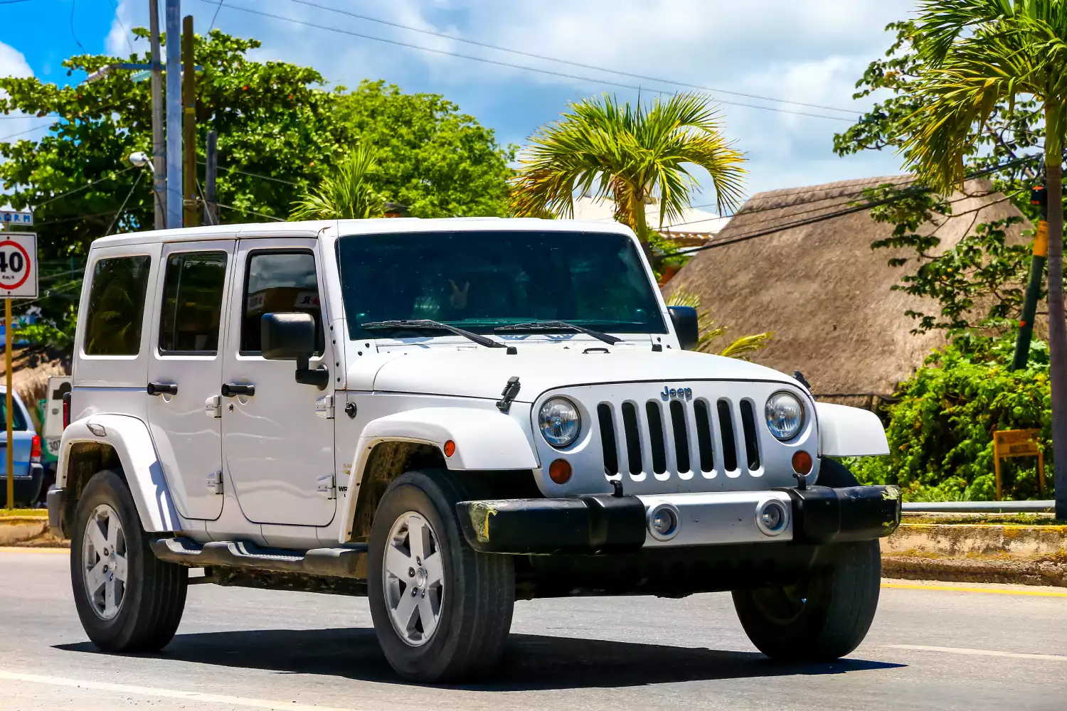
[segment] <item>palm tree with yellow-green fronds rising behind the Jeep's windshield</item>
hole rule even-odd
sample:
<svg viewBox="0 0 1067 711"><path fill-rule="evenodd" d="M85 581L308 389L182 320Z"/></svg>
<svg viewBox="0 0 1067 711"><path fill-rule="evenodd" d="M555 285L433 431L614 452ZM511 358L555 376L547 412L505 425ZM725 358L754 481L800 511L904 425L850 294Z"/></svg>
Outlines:
<svg viewBox="0 0 1067 711"><path fill-rule="evenodd" d="M659 198L659 226L681 217L698 184L691 165L711 175L719 212L737 206L745 158L722 138L707 97L676 94L635 109L604 95L570 109L530 139L512 189L515 214L571 217L575 193L595 191L615 200L615 219L648 249L646 204Z"/></svg>

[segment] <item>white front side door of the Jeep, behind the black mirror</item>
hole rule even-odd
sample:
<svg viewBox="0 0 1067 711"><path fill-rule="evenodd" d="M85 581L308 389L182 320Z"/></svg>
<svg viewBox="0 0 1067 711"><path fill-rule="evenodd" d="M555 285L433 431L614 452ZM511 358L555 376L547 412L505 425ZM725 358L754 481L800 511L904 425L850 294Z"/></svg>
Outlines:
<svg viewBox="0 0 1067 711"><path fill-rule="evenodd" d="M334 371L332 339L315 240L241 240L237 249L240 292L229 309L223 359L223 452L244 516L256 523L327 526L335 500L333 420L316 416L316 401L332 392L296 381L296 362L260 353L265 313L300 311L315 318L318 350L309 367ZM333 378L331 377L331 382ZM251 389L250 387L251 386Z"/></svg>

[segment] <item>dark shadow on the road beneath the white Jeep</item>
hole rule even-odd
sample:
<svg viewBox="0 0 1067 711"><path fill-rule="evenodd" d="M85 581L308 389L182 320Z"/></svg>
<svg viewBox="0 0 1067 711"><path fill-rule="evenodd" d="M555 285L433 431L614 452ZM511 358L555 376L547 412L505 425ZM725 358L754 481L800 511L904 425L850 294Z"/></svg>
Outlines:
<svg viewBox="0 0 1067 711"><path fill-rule="evenodd" d="M58 645L99 652L91 643ZM389 667L369 628L249 630L178 634L146 657L285 674L337 676L405 683ZM452 686L472 691L537 691L889 669L902 664L844 659L827 664L783 664L761 653L702 647L512 634L492 680Z"/></svg>

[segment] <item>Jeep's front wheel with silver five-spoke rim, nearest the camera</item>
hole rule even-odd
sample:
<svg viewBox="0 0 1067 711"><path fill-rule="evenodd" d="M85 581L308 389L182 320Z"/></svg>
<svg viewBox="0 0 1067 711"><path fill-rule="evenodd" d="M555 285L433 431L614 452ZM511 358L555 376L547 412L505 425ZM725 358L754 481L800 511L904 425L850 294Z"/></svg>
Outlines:
<svg viewBox="0 0 1067 711"><path fill-rule="evenodd" d="M405 679L476 677L495 666L511 628L511 559L467 545L456 514L465 498L447 470L410 471L389 485L375 514L370 613L382 651Z"/></svg>

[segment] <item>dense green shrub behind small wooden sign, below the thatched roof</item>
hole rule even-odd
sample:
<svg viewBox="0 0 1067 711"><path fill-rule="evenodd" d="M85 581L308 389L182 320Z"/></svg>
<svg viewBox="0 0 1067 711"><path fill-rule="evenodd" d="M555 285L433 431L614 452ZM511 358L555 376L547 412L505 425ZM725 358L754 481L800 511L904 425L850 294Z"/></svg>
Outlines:
<svg viewBox="0 0 1067 711"><path fill-rule="evenodd" d="M897 484L909 501L988 501L997 496L993 432L1040 430L1052 496L1048 344L1035 340L1025 370L1010 372L1015 335L968 335L936 351L889 408L889 456L851 458L863 483ZM1036 457L1004 459L1005 499L1039 498Z"/></svg>

